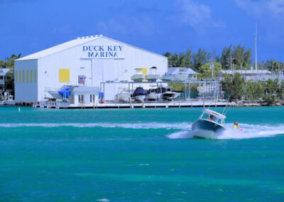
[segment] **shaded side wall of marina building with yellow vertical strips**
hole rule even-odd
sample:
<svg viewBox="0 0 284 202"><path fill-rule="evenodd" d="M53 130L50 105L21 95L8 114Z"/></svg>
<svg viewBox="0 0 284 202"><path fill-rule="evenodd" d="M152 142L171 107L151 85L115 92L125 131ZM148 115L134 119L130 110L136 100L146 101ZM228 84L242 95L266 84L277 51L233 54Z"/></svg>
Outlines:
<svg viewBox="0 0 284 202"><path fill-rule="evenodd" d="M14 75L16 102L40 100L38 97L38 60L16 60Z"/></svg>

